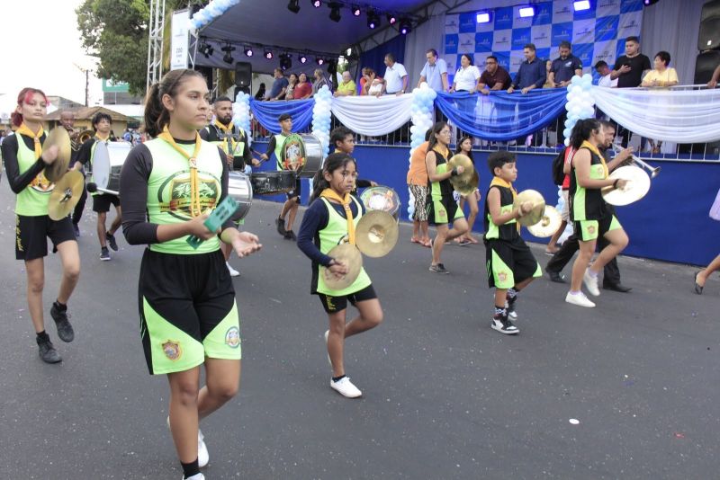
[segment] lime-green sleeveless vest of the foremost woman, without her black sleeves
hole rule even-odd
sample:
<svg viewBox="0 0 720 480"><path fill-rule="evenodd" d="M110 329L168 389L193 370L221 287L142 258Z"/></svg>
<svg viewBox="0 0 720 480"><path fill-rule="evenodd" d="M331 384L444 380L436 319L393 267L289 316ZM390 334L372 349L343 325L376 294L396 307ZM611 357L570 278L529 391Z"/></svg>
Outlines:
<svg viewBox="0 0 720 480"><path fill-rule="evenodd" d="M148 221L157 225L183 223L190 215L190 165L184 156L162 138L155 138L143 145L152 155L152 172L148 178ZM194 144L177 144L193 155ZM222 165L218 147L202 140L197 157L200 204L202 212L214 209L222 193ZM150 250L160 253L190 255L214 252L220 248L220 238L213 236L197 249L187 243L187 236L151 244Z"/></svg>

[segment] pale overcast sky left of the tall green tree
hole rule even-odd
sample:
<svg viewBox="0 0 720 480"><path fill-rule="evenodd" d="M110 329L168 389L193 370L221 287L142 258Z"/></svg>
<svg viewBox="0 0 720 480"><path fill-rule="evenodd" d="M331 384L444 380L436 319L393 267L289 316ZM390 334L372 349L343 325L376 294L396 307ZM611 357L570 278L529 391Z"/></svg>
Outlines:
<svg viewBox="0 0 720 480"><path fill-rule="evenodd" d="M92 67L77 30L75 9L82 0L2 0L4 39L0 94L17 95L25 86L85 102L85 74ZM29 33L31 32L31 33ZM90 74L90 105L102 100L101 81Z"/></svg>

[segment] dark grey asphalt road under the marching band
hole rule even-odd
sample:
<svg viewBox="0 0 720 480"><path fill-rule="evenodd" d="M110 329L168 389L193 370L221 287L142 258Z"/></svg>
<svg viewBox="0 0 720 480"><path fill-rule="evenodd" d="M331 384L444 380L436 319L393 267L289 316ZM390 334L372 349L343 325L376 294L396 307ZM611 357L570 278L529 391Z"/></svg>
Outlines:
<svg viewBox="0 0 720 480"><path fill-rule="evenodd" d="M0 200L0 476L181 478L167 382L148 375L139 342L142 247L121 239L100 262L88 202L76 340L60 342L48 314L63 362L46 365L6 185ZM604 292L595 309L538 280L518 303L521 333L507 337L490 328L483 248L448 246L452 273L438 276L403 225L391 254L365 259L385 320L347 342L364 392L349 400L329 388L327 317L309 294L310 261L271 225L278 209L256 201L246 225L264 248L232 261L243 374L239 395L202 423L208 479L717 477L716 278L698 297L692 267L622 258L632 293ZM46 312L58 266L46 262Z"/></svg>

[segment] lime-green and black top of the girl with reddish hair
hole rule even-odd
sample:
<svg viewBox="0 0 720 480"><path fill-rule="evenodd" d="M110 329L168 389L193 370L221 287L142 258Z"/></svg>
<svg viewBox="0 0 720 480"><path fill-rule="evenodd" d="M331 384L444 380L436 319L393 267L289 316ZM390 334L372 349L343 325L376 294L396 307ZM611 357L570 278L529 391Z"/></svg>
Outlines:
<svg viewBox="0 0 720 480"><path fill-rule="evenodd" d="M47 136L40 136L40 145ZM14 134L3 140L2 156L7 181L16 194L15 214L23 217L48 215L50 193L55 188L42 173L45 163L35 156L35 140Z"/></svg>

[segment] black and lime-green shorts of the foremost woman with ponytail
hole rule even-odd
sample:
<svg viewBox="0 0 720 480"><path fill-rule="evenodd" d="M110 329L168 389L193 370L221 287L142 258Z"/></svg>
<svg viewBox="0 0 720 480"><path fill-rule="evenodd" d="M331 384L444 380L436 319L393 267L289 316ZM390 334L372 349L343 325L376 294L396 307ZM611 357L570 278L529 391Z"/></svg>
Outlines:
<svg viewBox="0 0 720 480"><path fill-rule="evenodd" d="M140 336L151 374L241 358L238 307L225 257L147 249L139 277Z"/></svg>

